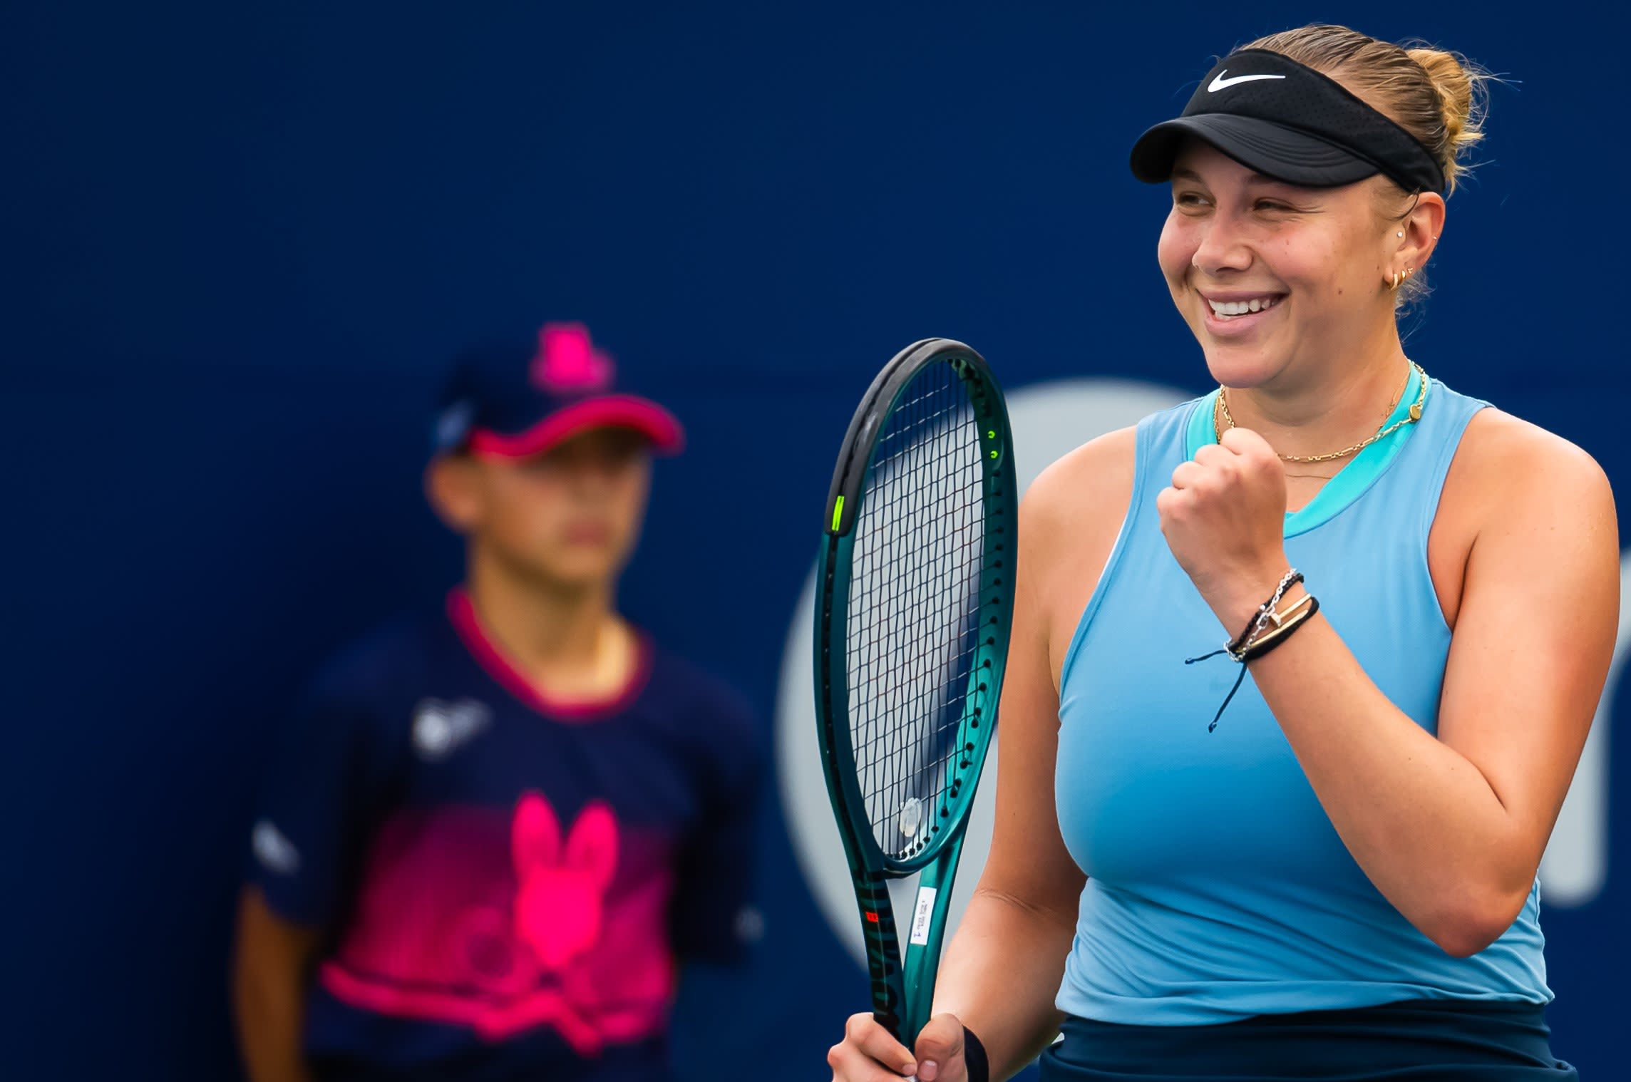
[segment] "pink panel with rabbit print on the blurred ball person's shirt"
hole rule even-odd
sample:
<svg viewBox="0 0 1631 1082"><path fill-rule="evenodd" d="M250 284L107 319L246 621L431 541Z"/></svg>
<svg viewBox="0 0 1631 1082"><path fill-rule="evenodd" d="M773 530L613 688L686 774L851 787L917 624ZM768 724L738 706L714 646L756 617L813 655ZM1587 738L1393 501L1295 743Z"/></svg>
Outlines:
<svg viewBox="0 0 1631 1082"><path fill-rule="evenodd" d="M581 1056L659 1031L674 992L665 847L626 844L600 801L564 834L537 792L493 811L387 824L325 986L489 1041L548 1025Z"/></svg>

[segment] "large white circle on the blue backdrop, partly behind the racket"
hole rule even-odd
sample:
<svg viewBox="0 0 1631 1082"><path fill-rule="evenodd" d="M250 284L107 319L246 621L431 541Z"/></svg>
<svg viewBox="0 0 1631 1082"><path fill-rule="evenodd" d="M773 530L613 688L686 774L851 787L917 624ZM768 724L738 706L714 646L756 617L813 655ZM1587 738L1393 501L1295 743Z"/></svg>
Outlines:
<svg viewBox="0 0 1631 1082"><path fill-rule="evenodd" d="M1114 379L1055 380L1006 392L1019 491L1029 488L1036 475L1065 452L1191 397L1173 387ZM781 682L776 689L776 774L793 852L804 880L833 933L856 964L864 966L861 916L855 906L855 891L850 888L850 865L843 857L838 826L832 818L832 805L827 803L827 782L822 775L820 747L816 743L814 605L812 565L804 579L804 591L793 607L788 645L781 654ZM982 785L974 795L962 860L951 891L951 912L946 916L948 942L957 920L962 919L992 847L995 777L997 747L992 746L980 775ZM897 914L910 912L913 891L912 878L891 881L889 894Z"/></svg>

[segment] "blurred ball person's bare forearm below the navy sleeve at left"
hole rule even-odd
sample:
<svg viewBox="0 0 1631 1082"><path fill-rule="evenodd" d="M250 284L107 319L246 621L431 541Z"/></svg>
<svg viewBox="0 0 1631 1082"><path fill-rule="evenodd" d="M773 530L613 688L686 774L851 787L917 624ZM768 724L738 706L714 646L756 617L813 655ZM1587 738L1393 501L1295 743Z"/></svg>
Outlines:
<svg viewBox="0 0 1631 1082"><path fill-rule="evenodd" d="M232 999L251 1082L310 1082L300 1053L307 978L318 932L289 924L254 886L238 904Z"/></svg>

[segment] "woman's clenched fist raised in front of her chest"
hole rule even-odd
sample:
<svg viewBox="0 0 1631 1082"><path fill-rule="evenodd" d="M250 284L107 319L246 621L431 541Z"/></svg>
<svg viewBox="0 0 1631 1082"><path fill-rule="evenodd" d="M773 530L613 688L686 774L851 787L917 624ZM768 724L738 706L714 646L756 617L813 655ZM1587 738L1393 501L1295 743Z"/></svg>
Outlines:
<svg viewBox="0 0 1631 1082"><path fill-rule="evenodd" d="M1173 470L1155 508L1173 557L1238 635L1287 571L1285 470L1274 449L1231 428Z"/></svg>

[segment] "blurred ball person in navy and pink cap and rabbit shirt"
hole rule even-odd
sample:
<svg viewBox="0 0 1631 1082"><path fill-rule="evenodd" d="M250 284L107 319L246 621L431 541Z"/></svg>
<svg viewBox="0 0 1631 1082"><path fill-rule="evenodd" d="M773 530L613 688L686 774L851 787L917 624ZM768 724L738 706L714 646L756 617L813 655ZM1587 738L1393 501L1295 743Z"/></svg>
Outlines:
<svg viewBox="0 0 1631 1082"><path fill-rule="evenodd" d="M236 933L253 1082L667 1077L677 963L752 932L755 731L618 615L662 406L579 325L462 357L426 485L445 612L316 681Z"/></svg>

